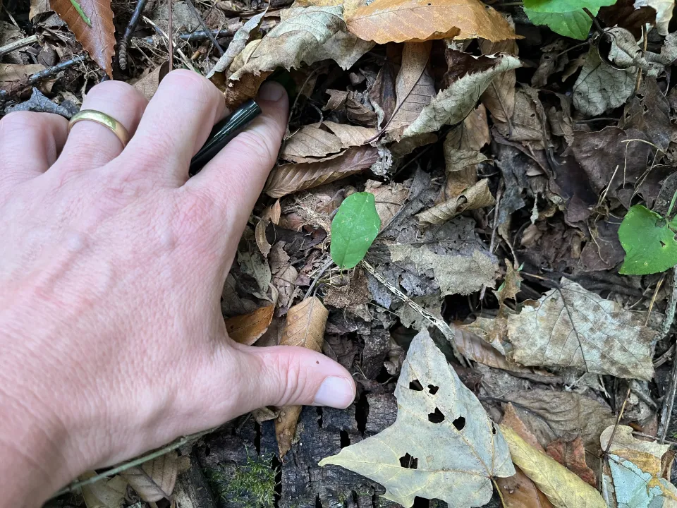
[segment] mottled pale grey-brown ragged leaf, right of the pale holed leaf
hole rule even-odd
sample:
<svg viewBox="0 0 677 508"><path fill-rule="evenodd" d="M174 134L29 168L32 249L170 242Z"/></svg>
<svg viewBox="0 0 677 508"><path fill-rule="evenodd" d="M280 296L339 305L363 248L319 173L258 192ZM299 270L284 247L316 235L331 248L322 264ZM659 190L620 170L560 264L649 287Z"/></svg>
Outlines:
<svg viewBox="0 0 677 508"><path fill-rule="evenodd" d="M626 379L653 377L656 332L629 310L568 279L508 317L509 359Z"/></svg>

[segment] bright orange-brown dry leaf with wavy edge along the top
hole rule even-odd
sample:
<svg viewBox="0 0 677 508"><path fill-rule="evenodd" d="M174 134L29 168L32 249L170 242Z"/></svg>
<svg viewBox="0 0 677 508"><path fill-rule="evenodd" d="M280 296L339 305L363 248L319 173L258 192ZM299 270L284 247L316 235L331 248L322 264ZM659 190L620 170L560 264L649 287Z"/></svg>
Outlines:
<svg viewBox="0 0 677 508"><path fill-rule="evenodd" d="M423 42L458 37L515 39L515 31L480 0L375 0L346 16L348 30L364 40Z"/></svg>

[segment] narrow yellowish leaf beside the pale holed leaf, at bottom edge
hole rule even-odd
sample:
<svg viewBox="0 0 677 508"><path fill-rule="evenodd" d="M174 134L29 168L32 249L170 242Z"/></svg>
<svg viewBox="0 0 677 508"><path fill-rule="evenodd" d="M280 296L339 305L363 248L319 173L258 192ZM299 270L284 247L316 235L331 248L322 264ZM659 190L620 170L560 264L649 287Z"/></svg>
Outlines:
<svg viewBox="0 0 677 508"><path fill-rule="evenodd" d="M606 508L597 490L551 457L532 447L513 429L501 425L513 463L543 492L555 508Z"/></svg>

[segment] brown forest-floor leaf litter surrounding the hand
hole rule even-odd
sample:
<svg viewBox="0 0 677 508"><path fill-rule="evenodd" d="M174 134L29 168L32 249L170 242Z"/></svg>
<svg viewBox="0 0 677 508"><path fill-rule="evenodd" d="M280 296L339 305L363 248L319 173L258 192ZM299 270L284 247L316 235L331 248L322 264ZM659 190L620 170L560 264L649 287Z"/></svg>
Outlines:
<svg viewBox="0 0 677 508"><path fill-rule="evenodd" d="M150 99L168 33L230 109L286 86L224 325L358 385L346 412L262 408L217 459L186 445L70 504L183 500L197 454L233 480L262 461L285 508L675 505L675 2L518 4L178 0L171 27L166 2L6 6L1 114L72 116L104 75Z"/></svg>

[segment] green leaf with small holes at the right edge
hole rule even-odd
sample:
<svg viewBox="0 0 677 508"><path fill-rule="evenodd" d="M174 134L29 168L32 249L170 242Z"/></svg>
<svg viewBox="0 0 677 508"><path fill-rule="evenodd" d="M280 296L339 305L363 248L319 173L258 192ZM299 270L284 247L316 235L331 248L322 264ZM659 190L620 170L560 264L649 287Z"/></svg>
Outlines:
<svg viewBox="0 0 677 508"><path fill-rule="evenodd" d="M626 251L620 273L647 275L677 265L676 221L666 222L643 205L628 210L618 228L618 240Z"/></svg>

